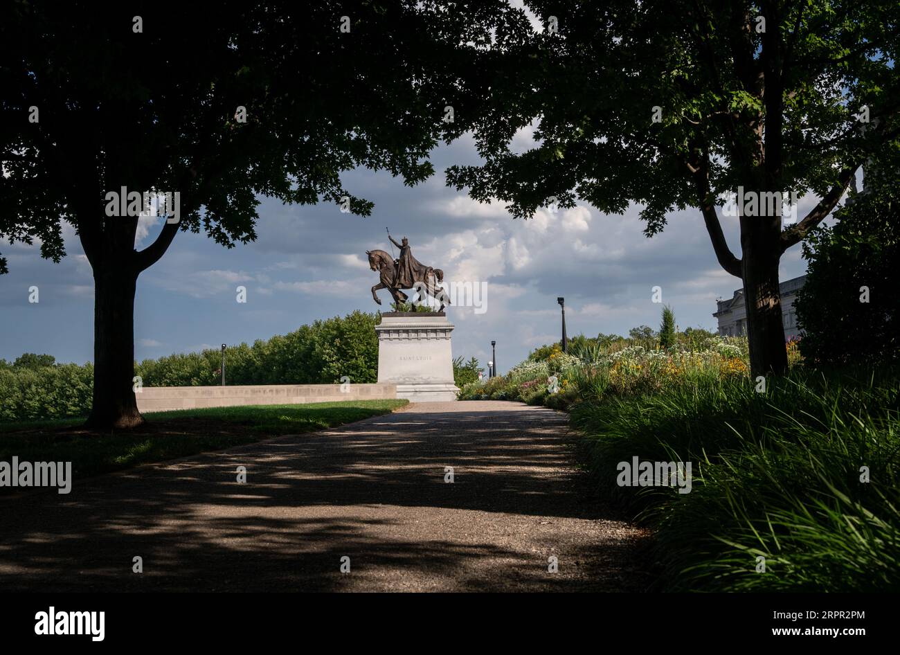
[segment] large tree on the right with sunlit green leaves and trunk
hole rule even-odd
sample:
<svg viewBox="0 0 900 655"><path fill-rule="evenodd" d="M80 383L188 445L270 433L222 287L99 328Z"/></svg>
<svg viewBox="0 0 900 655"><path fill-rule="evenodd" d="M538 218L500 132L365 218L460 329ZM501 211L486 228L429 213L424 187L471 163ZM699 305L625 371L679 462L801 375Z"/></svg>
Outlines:
<svg viewBox="0 0 900 655"><path fill-rule="evenodd" d="M896 0L526 0L543 29L484 58L490 106L467 125L484 163L448 184L516 217L581 200L702 213L716 258L742 278L755 374L787 367L779 260L833 210L873 153L896 148ZM536 124L536 148L510 149ZM725 194L815 193L796 223L739 205L735 254ZM752 202L752 201L751 201ZM749 206L749 205L748 205Z"/></svg>

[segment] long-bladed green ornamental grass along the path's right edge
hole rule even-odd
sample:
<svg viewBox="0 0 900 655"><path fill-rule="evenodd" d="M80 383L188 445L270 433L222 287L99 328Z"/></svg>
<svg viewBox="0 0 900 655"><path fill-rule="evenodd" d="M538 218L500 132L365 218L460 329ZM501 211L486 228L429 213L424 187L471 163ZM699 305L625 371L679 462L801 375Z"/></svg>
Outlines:
<svg viewBox="0 0 900 655"><path fill-rule="evenodd" d="M900 590L900 371L683 380L572 407L602 493L653 528L659 586ZM692 462L691 491L617 484L617 462Z"/></svg>

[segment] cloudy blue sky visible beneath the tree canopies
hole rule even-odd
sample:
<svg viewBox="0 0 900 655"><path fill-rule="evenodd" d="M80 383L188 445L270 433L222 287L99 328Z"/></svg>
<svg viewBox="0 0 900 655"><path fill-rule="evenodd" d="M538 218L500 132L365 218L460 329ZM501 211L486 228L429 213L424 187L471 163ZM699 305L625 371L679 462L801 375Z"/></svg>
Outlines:
<svg viewBox="0 0 900 655"><path fill-rule="evenodd" d="M523 130L514 145L527 148L529 139ZM486 363L495 339L500 372L559 338L557 296L566 299L569 335L596 336L658 327L655 285L680 327L714 328L716 297L731 297L741 286L716 263L698 211L675 212L665 231L649 239L638 207L608 216L581 204L513 220L501 204L478 204L444 184L446 166L477 160L472 140L464 138L438 148L432 157L437 175L411 189L385 173L348 173L347 189L375 203L366 218L331 204L263 199L255 243L226 249L204 235L179 233L166 256L139 278L136 357L252 343L315 319L376 310L370 288L377 276L365 250L390 250L385 227L398 240L408 237L413 255L442 268L447 281L487 283L486 311L451 307L448 316L456 326L454 354ZM799 215L815 202L801 200ZM138 247L161 228L154 220L141 224ZM722 220L739 254L737 220ZM68 226L65 236L67 256L58 265L40 259L37 245L0 247L10 268L0 277L0 358L35 352L60 362L92 359L91 270ZM805 270L800 247L788 250L781 279ZM32 285L40 289L37 304L28 301ZM246 304L236 301L238 285L247 287ZM387 308L390 297L380 295Z"/></svg>

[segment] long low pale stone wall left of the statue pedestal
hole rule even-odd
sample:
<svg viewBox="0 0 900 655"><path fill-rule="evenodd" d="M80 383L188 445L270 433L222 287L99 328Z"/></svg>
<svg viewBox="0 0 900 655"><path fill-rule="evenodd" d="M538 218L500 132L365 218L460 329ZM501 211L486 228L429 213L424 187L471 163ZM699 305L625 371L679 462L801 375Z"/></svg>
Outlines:
<svg viewBox="0 0 900 655"><path fill-rule="evenodd" d="M144 387L135 396L142 412L169 411L238 405L290 405L339 400L380 400L397 398L397 385L269 384L233 387Z"/></svg>

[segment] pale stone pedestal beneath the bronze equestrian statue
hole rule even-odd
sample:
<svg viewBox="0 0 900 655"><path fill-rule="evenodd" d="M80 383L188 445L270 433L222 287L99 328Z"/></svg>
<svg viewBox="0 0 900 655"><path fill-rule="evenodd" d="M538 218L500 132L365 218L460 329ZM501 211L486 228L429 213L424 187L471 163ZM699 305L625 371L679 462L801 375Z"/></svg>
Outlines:
<svg viewBox="0 0 900 655"><path fill-rule="evenodd" d="M397 385L397 398L411 402L455 400L453 324L443 312L382 314L378 333L378 381Z"/></svg>

